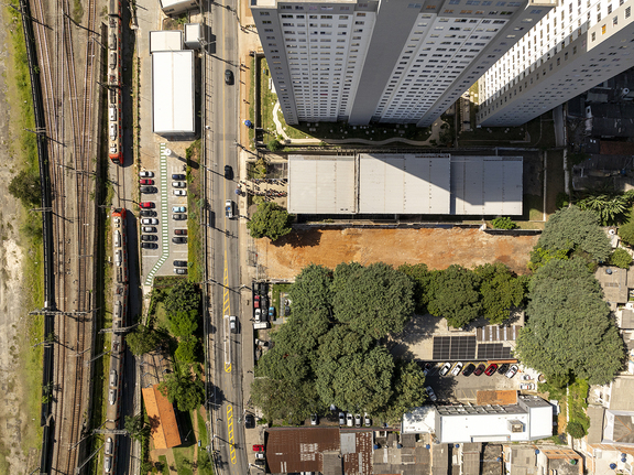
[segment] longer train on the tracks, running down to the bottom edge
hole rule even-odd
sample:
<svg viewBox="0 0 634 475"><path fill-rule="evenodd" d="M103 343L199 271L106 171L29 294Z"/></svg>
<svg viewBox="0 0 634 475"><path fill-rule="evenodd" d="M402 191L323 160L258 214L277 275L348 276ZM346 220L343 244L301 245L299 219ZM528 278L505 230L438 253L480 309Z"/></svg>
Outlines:
<svg viewBox="0 0 634 475"><path fill-rule="evenodd" d="M112 341L110 350L110 375L108 377L108 406L106 429L121 428L121 387L125 350L124 328L128 326L128 235L125 233L125 208L112 212L112 255L114 257L114 280L112 302ZM106 435L103 473L114 472L118 436Z"/></svg>

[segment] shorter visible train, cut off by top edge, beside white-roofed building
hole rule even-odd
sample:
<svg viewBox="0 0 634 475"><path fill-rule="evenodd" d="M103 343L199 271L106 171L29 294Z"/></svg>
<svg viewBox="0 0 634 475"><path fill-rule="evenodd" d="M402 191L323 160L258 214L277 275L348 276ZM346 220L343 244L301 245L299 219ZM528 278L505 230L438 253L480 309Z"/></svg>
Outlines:
<svg viewBox="0 0 634 475"><path fill-rule="evenodd" d="M123 164L121 151L121 0L110 0L108 10L108 156Z"/></svg>

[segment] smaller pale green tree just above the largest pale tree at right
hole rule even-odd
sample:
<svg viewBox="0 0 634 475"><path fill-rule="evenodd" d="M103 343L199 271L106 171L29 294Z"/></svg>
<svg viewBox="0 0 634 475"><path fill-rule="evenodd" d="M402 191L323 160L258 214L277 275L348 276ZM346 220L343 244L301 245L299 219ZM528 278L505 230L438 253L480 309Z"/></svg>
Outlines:
<svg viewBox="0 0 634 475"><path fill-rule="evenodd" d="M598 262L606 261L612 251L608 236L599 226L597 213L577 206L559 209L550 216L536 247L567 253L579 249Z"/></svg>

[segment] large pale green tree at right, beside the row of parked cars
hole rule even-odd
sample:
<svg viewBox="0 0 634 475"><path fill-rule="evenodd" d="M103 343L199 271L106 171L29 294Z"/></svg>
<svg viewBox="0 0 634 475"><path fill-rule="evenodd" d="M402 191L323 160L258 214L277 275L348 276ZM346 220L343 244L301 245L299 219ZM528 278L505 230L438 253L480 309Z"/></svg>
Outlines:
<svg viewBox="0 0 634 475"><path fill-rule="evenodd" d="M623 366L624 344L601 288L581 259L551 260L533 277L517 355L548 380L569 374L603 385Z"/></svg>

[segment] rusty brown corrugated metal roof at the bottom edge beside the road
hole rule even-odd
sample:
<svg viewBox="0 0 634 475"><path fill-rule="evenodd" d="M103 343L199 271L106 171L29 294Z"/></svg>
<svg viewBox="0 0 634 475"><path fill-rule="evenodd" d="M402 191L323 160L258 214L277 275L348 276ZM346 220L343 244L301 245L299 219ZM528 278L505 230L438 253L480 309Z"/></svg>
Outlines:
<svg viewBox="0 0 634 475"><path fill-rule="evenodd" d="M271 473L323 472L324 452L339 453L338 428L273 428L266 434Z"/></svg>

